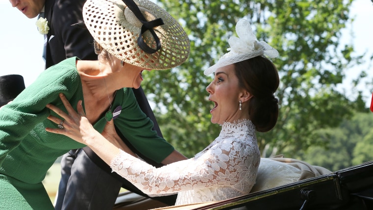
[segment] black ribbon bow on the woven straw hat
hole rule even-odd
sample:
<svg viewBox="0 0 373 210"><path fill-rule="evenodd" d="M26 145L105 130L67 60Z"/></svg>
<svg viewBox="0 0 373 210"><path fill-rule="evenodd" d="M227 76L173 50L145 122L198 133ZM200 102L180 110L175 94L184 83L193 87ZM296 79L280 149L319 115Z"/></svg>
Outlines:
<svg viewBox="0 0 373 210"><path fill-rule="evenodd" d="M131 9L133 14L136 16L136 18L142 23L141 26L141 32L140 35L137 38L137 44L140 47L141 50L143 50L145 53L156 53L157 51L160 50L160 38L157 36L156 32L154 31L154 27L161 26L163 25L163 20L161 18L152 20L152 21L146 21L145 17L142 15L140 9L138 6L135 4L133 0L123 0L123 2L128 6L128 8ZM156 49L153 49L149 47L145 42L144 39L142 38L142 34L145 33L145 31L149 30L152 35L154 40L156 41Z"/></svg>

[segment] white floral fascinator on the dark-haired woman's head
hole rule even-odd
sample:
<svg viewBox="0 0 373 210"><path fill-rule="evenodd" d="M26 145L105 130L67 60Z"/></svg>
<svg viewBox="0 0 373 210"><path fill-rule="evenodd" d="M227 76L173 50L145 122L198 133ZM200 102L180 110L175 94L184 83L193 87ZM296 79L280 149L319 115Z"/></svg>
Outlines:
<svg viewBox="0 0 373 210"><path fill-rule="evenodd" d="M258 41L255 37L250 23L241 19L236 25L236 32L239 37L232 36L229 38L228 43L230 48L219 58L217 63L209 67L204 74L209 75L215 72L216 69L227 66L233 63L240 62L252 57L266 55L268 57L277 57L278 52L276 49L269 46L264 41Z"/></svg>

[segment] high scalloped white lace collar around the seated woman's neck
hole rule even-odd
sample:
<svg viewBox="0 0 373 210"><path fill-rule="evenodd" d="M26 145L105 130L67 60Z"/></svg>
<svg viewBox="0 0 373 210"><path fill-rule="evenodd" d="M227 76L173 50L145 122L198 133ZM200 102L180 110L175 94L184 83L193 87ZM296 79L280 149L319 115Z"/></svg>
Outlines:
<svg viewBox="0 0 373 210"><path fill-rule="evenodd" d="M223 125L221 125L220 135L240 132L248 132L250 135L253 135L255 134L255 131L255 126L251 120L243 119L233 123L224 122Z"/></svg>

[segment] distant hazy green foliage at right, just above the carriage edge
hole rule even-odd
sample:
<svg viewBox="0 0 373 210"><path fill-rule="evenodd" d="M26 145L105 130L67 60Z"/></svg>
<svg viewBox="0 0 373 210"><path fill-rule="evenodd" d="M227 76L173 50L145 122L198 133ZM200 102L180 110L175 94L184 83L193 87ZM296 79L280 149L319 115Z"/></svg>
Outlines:
<svg viewBox="0 0 373 210"><path fill-rule="evenodd" d="M326 148L311 146L306 152L296 153L296 158L313 165L337 171L373 159L373 115L357 113L344 120L338 128L320 130L320 136L328 142Z"/></svg>

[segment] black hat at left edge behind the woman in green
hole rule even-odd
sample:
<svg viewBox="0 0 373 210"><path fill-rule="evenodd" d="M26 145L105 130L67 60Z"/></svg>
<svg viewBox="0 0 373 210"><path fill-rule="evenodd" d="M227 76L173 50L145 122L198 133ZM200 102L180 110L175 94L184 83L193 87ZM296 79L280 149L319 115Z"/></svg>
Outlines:
<svg viewBox="0 0 373 210"><path fill-rule="evenodd" d="M4 75L0 77L0 106L8 104L25 89L21 75Z"/></svg>

